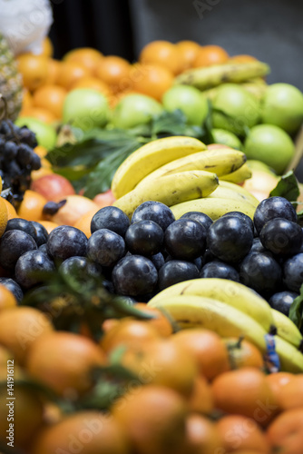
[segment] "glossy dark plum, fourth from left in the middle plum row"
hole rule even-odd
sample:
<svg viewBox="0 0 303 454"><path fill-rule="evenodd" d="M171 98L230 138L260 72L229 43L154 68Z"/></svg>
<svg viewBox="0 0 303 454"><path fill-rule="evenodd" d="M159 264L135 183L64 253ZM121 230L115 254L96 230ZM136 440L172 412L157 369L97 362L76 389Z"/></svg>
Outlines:
<svg viewBox="0 0 303 454"><path fill-rule="evenodd" d="M153 221L139 221L130 225L125 233L125 244L132 254L151 257L161 252L164 232L160 225Z"/></svg>

